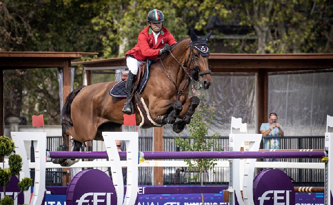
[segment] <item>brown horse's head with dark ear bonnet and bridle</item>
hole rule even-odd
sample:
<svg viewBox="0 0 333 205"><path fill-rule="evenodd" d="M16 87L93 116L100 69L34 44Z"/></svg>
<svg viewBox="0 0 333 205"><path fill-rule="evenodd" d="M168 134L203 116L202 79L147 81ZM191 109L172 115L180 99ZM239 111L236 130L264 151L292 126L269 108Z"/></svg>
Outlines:
<svg viewBox="0 0 333 205"><path fill-rule="evenodd" d="M208 89L212 83L211 67L208 64L209 48L207 47L207 41L211 37L212 31L201 38L197 36L193 29L191 29L191 42L189 58L192 70L192 77L195 81L200 81L204 89ZM189 59L188 59L189 60ZM187 63L187 62L186 62Z"/></svg>

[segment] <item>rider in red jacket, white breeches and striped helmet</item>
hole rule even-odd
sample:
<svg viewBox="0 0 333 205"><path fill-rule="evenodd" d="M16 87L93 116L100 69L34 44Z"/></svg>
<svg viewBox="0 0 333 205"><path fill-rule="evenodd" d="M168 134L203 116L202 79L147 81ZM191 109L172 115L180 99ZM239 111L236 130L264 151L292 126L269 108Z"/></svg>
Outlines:
<svg viewBox="0 0 333 205"><path fill-rule="evenodd" d="M139 66L145 60L157 60L157 56L168 52L171 49L170 45L177 43L170 31L163 26L164 14L160 10L151 10L147 19L149 26L139 33L137 44L125 54L130 70L126 82L126 103L122 109L126 114L133 114L134 111L131 97ZM165 44L169 45L163 48Z"/></svg>

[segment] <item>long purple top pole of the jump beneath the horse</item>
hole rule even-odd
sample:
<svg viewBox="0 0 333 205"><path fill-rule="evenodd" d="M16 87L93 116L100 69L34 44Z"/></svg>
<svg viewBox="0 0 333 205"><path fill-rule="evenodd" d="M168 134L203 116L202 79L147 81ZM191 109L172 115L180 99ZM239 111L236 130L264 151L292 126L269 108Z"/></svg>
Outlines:
<svg viewBox="0 0 333 205"><path fill-rule="evenodd" d="M142 152L145 159L238 159L238 158L323 158L326 152ZM106 159L107 152L49 152L51 158L91 158ZM126 158L126 152L119 152L120 158Z"/></svg>

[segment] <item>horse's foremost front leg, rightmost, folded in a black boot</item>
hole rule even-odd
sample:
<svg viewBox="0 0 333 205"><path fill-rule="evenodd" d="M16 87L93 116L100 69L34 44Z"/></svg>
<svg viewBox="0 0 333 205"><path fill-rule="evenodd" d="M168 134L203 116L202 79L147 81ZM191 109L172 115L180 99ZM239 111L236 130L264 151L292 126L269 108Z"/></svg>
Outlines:
<svg viewBox="0 0 333 205"><path fill-rule="evenodd" d="M189 99L186 100L185 104L184 104L184 108L186 108L186 106L188 106L188 109L184 109L183 112L185 112L184 115L182 115L182 113L180 113L180 116L183 116L181 118L181 120L177 121L174 126L173 126L173 131L176 133L180 133L184 130L185 126L187 124L190 124L191 122L191 118L192 115L195 112L195 109L198 107L200 103L200 99L197 96L191 97ZM186 112L187 110L187 112Z"/></svg>

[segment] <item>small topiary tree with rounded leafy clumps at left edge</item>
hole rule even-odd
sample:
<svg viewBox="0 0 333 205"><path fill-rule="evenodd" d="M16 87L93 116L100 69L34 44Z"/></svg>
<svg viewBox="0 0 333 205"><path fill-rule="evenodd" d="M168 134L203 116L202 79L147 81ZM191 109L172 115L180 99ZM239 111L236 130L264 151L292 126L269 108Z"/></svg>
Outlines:
<svg viewBox="0 0 333 205"><path fill-rule="evenodd" d="M0 136L0 157L3 161L3 168L0 169L0 186L3 186L5 197L0 199L0 205L13 205L14 199L10 196L6 196L6 187L9 184L11 176L18 176L22 169L22 157L18 154L12 154L15 149L14 142L6 137ZM5 168L5 156L9 156L8 165L9 168ZM32 186L32 179L25 177L20 181L17 187L20 192L28 191Z"/></svg>

